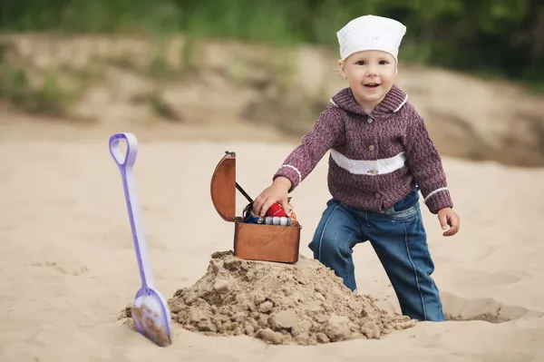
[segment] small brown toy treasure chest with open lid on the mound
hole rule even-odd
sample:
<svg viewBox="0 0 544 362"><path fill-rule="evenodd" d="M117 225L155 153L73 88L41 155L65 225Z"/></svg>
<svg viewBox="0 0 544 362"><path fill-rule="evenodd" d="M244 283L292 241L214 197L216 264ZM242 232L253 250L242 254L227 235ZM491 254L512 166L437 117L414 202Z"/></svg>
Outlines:
<svg viewBox="0 0 544 362"><path fill-rule="evenodd" d="M225 152L211 178L211 201L223 220L234 222L234 255L240 259L296 263L301 225L292 220L270 217L274 224L251 223L236 215L236 191L251 198L236 181L236 154Z"/></svg>

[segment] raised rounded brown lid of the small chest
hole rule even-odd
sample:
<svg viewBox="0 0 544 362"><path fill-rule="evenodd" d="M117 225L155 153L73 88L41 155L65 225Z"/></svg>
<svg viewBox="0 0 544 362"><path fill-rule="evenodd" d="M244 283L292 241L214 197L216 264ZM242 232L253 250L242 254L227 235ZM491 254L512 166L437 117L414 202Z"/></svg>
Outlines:
<svg viewBox="0 0 544 362"><path fill-rule="evenodd" d="M210 183L211 202L223 220L236 219L236 153L225 152Z"/></svg>

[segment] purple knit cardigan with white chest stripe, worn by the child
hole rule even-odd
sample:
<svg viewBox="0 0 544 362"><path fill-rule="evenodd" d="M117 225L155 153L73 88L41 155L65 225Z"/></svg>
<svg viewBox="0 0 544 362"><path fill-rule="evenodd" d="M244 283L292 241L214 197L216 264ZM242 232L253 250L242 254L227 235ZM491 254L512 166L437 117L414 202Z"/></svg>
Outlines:
<svg viewBox="0 0 544 362"><path fill-rule="evenodd" d="M330 151L328 188L347 206L383 213L417 184L432 213L453 207L440 154L407 99L393 85L367 114L349 88L336 93L274 179L287 177L294 191Z"/></svg>

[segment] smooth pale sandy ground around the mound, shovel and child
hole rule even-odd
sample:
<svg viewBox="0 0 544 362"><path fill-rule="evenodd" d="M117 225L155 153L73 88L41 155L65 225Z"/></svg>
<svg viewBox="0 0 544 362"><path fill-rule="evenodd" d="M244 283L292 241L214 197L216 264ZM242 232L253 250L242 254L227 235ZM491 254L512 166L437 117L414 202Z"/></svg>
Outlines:
<svg viewBox="0 0 544 362"><path fill-rule="evenodd" d="M248 337L205 337L176 326L155 347L117 320L140 288L110 132L82 137L0 136L0 361L541 361L544 360L544 170L444 159L461 231L443 238L424 209L445 312L381 340L272 347ZM137 133L137 136L140 134ZM61 139L62 138L62 139ZM247 137L249 138L249 137ZM160 292L170 298L232 248L233 225L209 197L223 152L256 196L292 144L160 142L141 135L135 175ZM258 166L258 167L256 167ZM301 252L325 207L325 159L293 194ZM237 211L245 206L238 194ZM370 245L355 249L359 292L398 305Z"/></svg>

